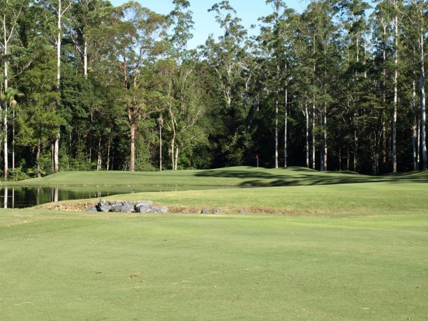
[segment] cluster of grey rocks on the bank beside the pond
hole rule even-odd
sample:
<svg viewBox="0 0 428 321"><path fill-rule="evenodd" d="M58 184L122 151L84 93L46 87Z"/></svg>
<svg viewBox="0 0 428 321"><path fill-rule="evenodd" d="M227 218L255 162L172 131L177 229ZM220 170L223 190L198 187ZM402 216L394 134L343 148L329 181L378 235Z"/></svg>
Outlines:
<svg viewBox="0 0 428 321"><path fill-rule="evenodd" d="M87 211L104 211L104 212L117 212L117 213L168 213L167 207L153 206L150 201L138 202L119 202L101 199L94 207L87 209Z"/></svg>

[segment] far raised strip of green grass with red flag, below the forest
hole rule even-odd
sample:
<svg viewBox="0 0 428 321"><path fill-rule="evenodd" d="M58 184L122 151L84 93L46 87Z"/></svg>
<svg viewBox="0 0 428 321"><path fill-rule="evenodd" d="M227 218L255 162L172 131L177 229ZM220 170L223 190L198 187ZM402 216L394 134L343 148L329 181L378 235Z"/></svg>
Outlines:
<svg viewBox="0 0 428 321"><path fill-rule="evenodd" d="M367 182L428 182L428 172L371 177L353 172L316 172L304 167L266 169L229 167L217 170L182 170L163 172L59 172L41 179L9 182L8 186L73 186L73 185L131 185L131 186L189 186L265 187L353 184ZM3 183L4 184L4 183Z"/></svg>

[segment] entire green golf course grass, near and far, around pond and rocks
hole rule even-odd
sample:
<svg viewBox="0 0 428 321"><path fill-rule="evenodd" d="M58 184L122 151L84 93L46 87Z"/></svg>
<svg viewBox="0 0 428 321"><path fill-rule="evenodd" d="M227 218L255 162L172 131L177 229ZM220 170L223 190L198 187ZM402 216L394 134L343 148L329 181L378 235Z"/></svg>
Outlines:
<svg viewBox="0 0 428 321"><path fill-rule="evenodd" d="M3 186L154 186L106 198L169 211L84 211L97 198L0 209L0 320L428 320L427 171L59 172Z"/></svg>

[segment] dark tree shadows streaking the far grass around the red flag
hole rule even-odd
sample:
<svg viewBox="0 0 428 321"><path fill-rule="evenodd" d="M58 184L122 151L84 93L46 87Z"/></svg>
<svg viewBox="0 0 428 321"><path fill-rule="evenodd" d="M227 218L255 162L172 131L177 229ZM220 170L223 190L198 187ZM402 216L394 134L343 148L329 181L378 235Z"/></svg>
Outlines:
<svg viewBox="0 0 428 321"><path fill-rule="evenodd" d="M428 183L428 171L368 176L355 172L317 172L305 167L265 169L231 167L198 172L196 177L242 179L240 187L310 186L358 183Z"/></svg>

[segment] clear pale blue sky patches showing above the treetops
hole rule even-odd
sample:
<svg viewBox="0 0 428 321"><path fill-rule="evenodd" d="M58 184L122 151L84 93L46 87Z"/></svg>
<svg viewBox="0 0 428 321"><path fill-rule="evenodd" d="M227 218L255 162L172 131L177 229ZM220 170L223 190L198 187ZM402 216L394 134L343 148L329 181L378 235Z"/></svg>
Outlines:
<svg viewBox="0 0 428 321"><path fill-rule="evenodd" d="M150 10L163 15L170 13L174 8L172 0L136 0L149 8ZM120 6L124 0L110 0L113 6ZM221 31L216 23L214 13L207 10L214 3L220 0L189 0L191 3L190 10L193 12L193 21L195 22L193 30L193 39L189 41L189 48L195 48L203 45L209 34L216 38ZM307 0L285 0L288 8L293 8L297 12L302 12L306 8ZM259 17L264 17L272 13L272 6L266 4L265 0L229 0L229 3L237 12L237 16L242 19L242 25L249 31L249 35L258 34L258 27L251 30L251 24L260 24Z"/></svg>

